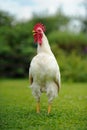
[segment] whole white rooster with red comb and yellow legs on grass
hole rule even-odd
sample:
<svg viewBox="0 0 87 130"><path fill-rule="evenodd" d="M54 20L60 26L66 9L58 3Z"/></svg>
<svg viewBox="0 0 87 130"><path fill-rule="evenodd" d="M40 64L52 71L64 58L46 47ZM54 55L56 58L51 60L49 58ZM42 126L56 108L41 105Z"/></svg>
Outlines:
<svg viewBox="0 0 87 130"><path fill-rule="evenodd" d="M32 94L37 101L37 113L40 112L40 96L46 92L48 96L48 114L54 97L60 89L60 70L51 51L47 37L44 34L45 26L37 23L33 29L34 42L38 44L37 55L32 59L29 68L29 81Z"/></svg>

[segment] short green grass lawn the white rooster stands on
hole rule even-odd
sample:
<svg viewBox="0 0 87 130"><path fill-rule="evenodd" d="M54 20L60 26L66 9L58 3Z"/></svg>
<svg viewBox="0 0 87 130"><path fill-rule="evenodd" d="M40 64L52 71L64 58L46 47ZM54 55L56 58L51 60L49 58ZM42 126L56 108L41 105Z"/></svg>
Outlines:
<svg viewBox="0 0 87 130"><path fill-rule="evenodd" d="M0 130L87 130L87 83L63 83L47 115L47 97L41 113L28 88L28 80L0 81Z"/></svg>

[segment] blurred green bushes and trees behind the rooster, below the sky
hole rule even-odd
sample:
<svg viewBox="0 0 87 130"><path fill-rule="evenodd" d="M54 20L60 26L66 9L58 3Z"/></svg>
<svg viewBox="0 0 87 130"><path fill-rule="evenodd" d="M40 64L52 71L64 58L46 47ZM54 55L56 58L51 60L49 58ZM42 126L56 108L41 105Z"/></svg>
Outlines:
<svg viewBox="0 0 87 130"><path fill-rule="evenodd" d="M43 14L43 15L42 15ZM0 11L0 77L28 78L29 65L36 54L32 29L37 22L46 26L52 51L60 66L62 81L87 81L87 17L66 16L61 9L54 15L33 14L17 21ZM80 23L79 27L73 25Z"/></svg>

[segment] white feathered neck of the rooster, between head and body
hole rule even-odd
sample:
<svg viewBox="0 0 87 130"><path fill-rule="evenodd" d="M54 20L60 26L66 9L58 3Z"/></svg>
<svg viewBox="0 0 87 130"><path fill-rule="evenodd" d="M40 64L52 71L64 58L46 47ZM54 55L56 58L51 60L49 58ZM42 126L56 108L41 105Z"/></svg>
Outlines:
<svg viewBox="0 0 87 130"><path fill-rule="evenodd" d="M45 34L43 34L42 44L41 45L38 44L37 47L37 53L42 53L42 52L52 54L48 39L45 36Z"/></svg>

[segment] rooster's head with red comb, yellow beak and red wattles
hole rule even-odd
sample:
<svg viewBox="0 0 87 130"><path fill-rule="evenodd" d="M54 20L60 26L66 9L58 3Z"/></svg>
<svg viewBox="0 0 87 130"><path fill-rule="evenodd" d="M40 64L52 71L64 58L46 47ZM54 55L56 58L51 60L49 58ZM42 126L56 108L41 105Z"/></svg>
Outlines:
<svg viewBox="0 0 87 130"><path fill-rule="evenodd" d="M45 26L41 23L37 23L33 28L34 42L42 44L43 33L45 32Z"/></svg>

